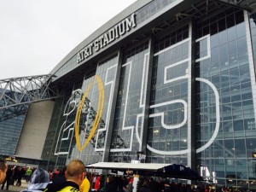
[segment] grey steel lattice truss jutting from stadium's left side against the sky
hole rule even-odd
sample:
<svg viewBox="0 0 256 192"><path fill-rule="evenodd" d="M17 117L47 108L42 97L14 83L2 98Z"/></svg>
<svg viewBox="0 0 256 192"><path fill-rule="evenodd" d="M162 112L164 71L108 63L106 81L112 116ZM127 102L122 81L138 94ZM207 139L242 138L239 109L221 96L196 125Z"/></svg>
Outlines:
<svg viewBox="0 0 256 192"><path fill-rule="evenodd" d="M49 88L51 74L12 79L0 79L0 109L39 102L58 97Z"/></svg>

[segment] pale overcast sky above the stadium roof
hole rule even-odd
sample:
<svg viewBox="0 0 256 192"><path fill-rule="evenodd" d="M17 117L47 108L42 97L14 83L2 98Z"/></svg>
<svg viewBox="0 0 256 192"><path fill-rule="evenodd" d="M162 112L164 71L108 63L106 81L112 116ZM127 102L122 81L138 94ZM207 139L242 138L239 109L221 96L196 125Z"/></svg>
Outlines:
<svg viewBox="0 0 256 192"><path fill-rule="evenodd" d="M2 0L0 79L48 74L136 0Z"/></svg>

